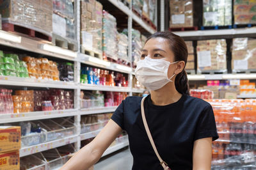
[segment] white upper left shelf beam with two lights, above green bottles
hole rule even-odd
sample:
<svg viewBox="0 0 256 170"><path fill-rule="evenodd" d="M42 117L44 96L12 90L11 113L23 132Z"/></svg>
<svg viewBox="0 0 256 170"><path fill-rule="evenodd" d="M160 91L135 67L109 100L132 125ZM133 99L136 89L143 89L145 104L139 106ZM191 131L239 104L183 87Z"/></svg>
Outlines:
<svg viewBox="0 0 256 170"><path fill-rule="evenodd" d="M50 42L42 40L33 40L21 35L15 35L0 30L0 45L13 47L15 49L28 50L30 52L36 52L38 54L44 54L46 56L52 56L55 58L67 59L76 61L77 53L71 50L61 49L51 45Z"/></svg>

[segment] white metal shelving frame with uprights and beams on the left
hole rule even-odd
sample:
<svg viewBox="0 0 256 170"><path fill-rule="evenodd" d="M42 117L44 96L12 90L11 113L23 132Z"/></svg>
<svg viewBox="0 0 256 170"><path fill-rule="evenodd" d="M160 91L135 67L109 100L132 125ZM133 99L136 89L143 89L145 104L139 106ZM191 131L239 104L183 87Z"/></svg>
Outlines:
<svg viewBox="0 0 256 170"><path fill-rule="evenodd" d="M153 34L155 32L152 27L148 26L140 17L135 15L131 10L131 4L129 7L125 6L124 3L118 0L109 0L109 3L113 4L121 12L128 16L128 38L129 38L129 49L128 54L131 59L132 56L132 22L135 21L140 25L143 30L148 32L148 34ZM74 1L74 11L76 13L76 20L80 20L80 3L79 1ZM8 49L24 50L25 52L41 54L49 58L64 59L66 61L74 62L74 82L62 82L62 81L45 81L42 79L32 79L32 78L20 78L20 77L7 77L0 76L0 85L2 86L18 86L18 87L33 87L33 88L61 88L61 89L72 89L74 90L74 108L69 110L61 111L39 111L39 112L24 112L19 114L0 114L0 123L13 123L19 121L32 121L32 120L43 120L51 118L62 118L67 116L74 116L74 123L76 125L76 135L70 137L65 137L63 139L58 139L55 141L50 141L47 143L36 144L26 148L20 149L20 157L25 157L33 153L38 153L40 151L49 150L51 148L57 148L59 146L64 146L69 143L74 143L76 150L81 148L81 140L89 139L90 137L95 137L100 130L94 132L89 132L86 134L81 134L81 115L86 114L99 114L106 112L113 112L117 108L115 107L100 107L100 108L90 108L81 109L79 95L81 89L83 90L100 90L100 91L120 91L128 92L129 95L132 93L142 93L143 89L132 88L131 77L134 75L134 68L130 66L119 65L117 63L111 63L104 61L102 59L94 58L80 52L80 22L76 22L76 36L78 43L78 51L74 52L67 49L62 49L47 43L45 41L36 40L29 38L28 36L17 35L15 33L9 33L0 30L0 45L8 47ZM122 87L112 87L112 86L91 86L89 84L80 84L80 70L81 63L86 65L91 65L99 68L104 68L106 70L113 70L115 72L127 73L129 75L129 86L128 88ZM113 151L119 150L128 146L128 141L124 143L116 144L111 148L108 148L104 155L108 155Z"/></svg>

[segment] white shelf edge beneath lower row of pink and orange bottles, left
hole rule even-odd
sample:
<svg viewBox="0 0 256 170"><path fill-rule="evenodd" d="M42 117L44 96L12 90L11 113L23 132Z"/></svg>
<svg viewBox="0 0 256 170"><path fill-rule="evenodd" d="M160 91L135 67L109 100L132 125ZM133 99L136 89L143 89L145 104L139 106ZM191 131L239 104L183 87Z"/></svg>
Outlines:
<svg viewBox="0 0 256 170"><path fill-rule="evenodd" d="M60 111L38 111L12 114L0 114L0 123L12 123L19 121L44 120L50 118L63 118L67 116L76 116L77 109L68 109Z"/></svg>

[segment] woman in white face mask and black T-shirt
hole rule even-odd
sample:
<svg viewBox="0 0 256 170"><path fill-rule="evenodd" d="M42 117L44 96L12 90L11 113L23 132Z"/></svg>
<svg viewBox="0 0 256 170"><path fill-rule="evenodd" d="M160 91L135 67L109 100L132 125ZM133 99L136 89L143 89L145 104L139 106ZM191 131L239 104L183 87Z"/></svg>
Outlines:
<svg viewBox="0 0 256 170"><path fill-rule="evenodd" d="M157 32L145 43L135 74L150 89L144 108L159 155L172 170L211 169L212 140L218 139L216 123L210 104L189 97L187 58L182 38L170 31ZM143 125L141 97L127 97L99 135L62 170L93 166L122 130L129 135L132 169L163 169Z"/></svg>

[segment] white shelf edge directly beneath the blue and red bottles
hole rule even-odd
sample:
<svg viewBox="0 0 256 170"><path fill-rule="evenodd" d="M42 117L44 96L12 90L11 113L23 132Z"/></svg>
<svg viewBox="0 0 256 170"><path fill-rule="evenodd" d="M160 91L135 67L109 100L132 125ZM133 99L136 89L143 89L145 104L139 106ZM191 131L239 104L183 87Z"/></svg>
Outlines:
<svg viewBox="0 0 256 170"><path fill-rule="evenodd" d="M93 84L81 84L81 89L84 90L99 90L99 91L118 91L118 92L130 92L130 88L118 87L118 86L101 86Z"/></svg>

